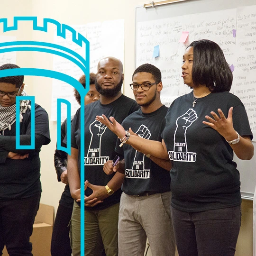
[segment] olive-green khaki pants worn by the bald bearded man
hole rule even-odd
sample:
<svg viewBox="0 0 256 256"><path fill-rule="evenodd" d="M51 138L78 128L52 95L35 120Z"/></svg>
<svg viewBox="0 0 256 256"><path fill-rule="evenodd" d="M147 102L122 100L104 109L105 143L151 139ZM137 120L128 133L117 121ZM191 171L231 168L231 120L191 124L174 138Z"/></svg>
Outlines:
<svg viewBox="0 0 256 256"><path fill-rule="evenodd" d="M107 256L118 256L119 203L104 210L84 211L84 256L101 256L103 245ZM74 202L70 237L73 256L80 256L81 209Z"/></svg>

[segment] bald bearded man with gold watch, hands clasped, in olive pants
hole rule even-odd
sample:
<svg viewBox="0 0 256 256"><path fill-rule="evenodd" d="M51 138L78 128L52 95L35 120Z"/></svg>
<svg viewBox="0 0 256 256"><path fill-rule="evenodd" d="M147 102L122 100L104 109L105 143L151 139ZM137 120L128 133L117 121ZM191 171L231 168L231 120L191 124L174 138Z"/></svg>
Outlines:
<svg viewBox="0 0 256 256"><path fill-rule="evenodd" d="M124 174L105 174L104 164L116 155L117 136L95 120L96 115L113 116L122 122L138 110L136 101L121 92L123 65L114 57L100 60L95 86L101 94L84 108L84 170L80 170L80 110L74 116L71 129L71 155L68 155L68 181L75 200L71 219L73 256L80 256L80 172L84 171L84 255L101 256L103 247L107 256L118 256L118 214L121 184Z"/></svg>

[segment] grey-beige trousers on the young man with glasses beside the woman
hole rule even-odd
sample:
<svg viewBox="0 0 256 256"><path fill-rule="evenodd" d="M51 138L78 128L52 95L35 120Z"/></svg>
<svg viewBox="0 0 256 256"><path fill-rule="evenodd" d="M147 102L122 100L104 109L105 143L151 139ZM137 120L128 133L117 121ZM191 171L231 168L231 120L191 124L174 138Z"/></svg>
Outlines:
<svg viewBox="0 0 256 256"><path fill-rule="evenodd" d="M144 256L146 238L152 256L174 256L171 192L150 196L121 195L119 256Z"/></svg>

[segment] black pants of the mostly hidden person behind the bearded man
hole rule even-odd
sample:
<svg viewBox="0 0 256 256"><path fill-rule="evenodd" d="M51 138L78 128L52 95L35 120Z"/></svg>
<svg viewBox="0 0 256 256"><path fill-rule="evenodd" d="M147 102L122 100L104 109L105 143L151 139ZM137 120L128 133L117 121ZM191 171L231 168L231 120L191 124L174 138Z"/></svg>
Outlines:
<svg viewBox="0 0 256 256"><path fill-rule="evenodd" d="M54 222L51 254L52 256L71 256L72 250L69 239L69 221L72 215L72 208L59 204Z"/></svg>

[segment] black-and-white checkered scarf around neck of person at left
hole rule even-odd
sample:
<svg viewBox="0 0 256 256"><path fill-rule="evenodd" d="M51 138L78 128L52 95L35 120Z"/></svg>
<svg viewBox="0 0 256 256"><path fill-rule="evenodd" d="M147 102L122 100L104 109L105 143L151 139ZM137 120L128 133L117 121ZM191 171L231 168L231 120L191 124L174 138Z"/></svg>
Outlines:
<svg viewBox="0 0 256 256"><path fill-rule="evenodd" d="M22 91L21 96L27 96L26 91ZM30 101L19 101L20 110L19 110L19 122L22 122L22 114L31 109L29 105ZM5 129L11 129L12 124L16 121L16 104L13 104L9 107L2 107L0 105L0 131Z"/></svg>

